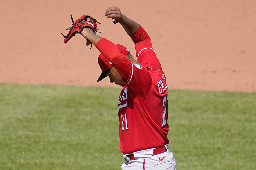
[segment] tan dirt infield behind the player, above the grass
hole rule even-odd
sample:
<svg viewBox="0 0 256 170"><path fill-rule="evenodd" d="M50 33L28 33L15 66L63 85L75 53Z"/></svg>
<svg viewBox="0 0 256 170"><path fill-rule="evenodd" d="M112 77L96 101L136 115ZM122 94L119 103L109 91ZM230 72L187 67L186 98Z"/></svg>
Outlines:
<svg viewBox="0 0 256 170"><path fill-rule="evenodd" d="M84 2L2 1L0 82L114 86L96 82L95 47L89 50L79 35L64 44L60 33L68 33L70 14L92 15L100 36L135 56L121 25L104 16L119 6L148 32L170 89L256 92L256 1Z"/></svg>

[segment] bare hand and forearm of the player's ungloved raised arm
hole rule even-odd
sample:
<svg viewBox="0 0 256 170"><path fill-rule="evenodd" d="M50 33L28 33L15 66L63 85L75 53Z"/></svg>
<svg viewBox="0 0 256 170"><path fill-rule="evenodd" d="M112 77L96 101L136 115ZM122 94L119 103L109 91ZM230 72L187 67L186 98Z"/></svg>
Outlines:
<svg viewBox="0 0 256 170"><path fill-rule="evenodd" d="M105 16L107 16L108 18L112 18L112 22L114 24L120 23L129 35L134 34L140 28L140 25L138 23L122 14L120 9L116 6L109 7L105 12Z"/></svg>

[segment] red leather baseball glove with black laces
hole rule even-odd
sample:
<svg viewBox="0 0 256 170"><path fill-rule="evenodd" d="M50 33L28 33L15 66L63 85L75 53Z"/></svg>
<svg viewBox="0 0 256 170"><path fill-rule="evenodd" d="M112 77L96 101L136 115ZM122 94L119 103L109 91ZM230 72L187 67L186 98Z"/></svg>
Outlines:
<svg viewBox="0 0 256 170"><path fill-rule="evenodd" d="M81 16L79 19L76 20L76 22L74 22L72 15L70 14L71 20L72 20L72 27L67 28L66 30L69 29L69 33L64 36L64 43L67 43L73 36L75 36L77 33L80 33L83 31L84 28L90 28L93 30L94 33L99 32L97 31L97 23L100 24L99 22L97 22L96 19L92 18L89 15L83 15ZM90 18L91 21L86 21L87 18ZM92 43L86 39L86 45L88 46L89 44L91 44L91 48L92 48ZM90 48L90 49L91 49Z"/></svg>

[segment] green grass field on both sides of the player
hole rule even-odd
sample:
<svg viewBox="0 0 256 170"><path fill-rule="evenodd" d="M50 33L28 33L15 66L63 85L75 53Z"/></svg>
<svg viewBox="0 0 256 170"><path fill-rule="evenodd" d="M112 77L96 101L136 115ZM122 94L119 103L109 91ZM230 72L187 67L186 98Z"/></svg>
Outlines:
<svg viewBox="0 0 256 170"><path fill-rule="evenodd" d="M0 84L0 169L121 169L120 88ZM177 169L256 169L256 93L170 90Z"/></svg>

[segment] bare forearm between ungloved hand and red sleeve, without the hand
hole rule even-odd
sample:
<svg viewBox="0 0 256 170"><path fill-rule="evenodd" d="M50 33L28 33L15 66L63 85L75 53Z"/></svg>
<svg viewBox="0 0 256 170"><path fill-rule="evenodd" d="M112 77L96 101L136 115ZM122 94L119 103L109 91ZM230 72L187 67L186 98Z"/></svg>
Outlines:
<svg viewBox="0 0 256 170"><path fill-rule="evenodd" d="M131 20L130 18L128 18L127 16L125 16L124 14L121 15L122 20L119 23L123 26L127 34L131 35L136 33L139 30L140 25L135 21Z"/></svg>

